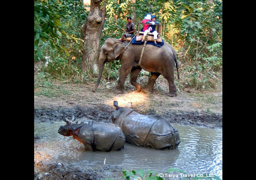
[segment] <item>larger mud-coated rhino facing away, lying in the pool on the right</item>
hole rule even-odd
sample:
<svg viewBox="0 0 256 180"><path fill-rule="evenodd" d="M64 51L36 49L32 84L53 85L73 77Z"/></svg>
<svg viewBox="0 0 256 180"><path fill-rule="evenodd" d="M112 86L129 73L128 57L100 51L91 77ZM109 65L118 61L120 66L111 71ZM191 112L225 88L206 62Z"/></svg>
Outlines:
<svg viewBox="0 0 256 180"><path fill-rule="evenodd" d="M112 121L123 130L126 142L133 145L155 149L175 149L180 144L178 130L159 115L142 115L130 109L131 103L124 108L114 101Z"/></svg>

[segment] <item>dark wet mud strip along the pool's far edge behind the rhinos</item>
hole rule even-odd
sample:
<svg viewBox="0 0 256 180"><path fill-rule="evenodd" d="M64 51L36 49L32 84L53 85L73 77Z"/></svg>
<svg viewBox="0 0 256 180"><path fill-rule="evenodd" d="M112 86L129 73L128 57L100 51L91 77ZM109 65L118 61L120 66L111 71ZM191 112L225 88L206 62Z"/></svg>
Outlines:
<svg viewBox="0 0 256 180"><path fill-rule="evenodd" d="M77 118L86 117L98 122L112 123L113 111L113 107L110 106L82 107L76 105L70 108L39 108L34 109L34 123L61 121L62 116L71 118L72 115L76 115ZM145 114L155 115L152 111L147 111ZM222 114L180 111L166 112L162 116L171 123L198 125L209 128L222 127Z"/></svg>

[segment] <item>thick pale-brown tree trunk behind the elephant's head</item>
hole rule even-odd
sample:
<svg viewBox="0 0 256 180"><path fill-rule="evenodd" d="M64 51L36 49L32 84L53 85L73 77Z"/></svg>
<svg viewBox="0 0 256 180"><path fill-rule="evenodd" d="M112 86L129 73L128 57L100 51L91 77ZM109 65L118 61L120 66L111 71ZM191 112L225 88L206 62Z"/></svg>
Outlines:
<svg viewBox="0 0 256 180"><path fill-rule="evenodd" d="M103 2L101 8L101 2ZM81 27L84 39L84 51L82 57L82 71L96 72L98 70L99 50L101 48L101 34L105 21L105 0L91 0L90 12L85 23Z"/></svg>

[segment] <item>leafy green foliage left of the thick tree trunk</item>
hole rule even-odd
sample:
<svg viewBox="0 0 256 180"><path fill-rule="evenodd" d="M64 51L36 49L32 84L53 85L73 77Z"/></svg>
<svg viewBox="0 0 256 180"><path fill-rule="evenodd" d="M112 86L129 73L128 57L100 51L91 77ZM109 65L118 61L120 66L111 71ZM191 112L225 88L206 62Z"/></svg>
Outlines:
<svg viewBox="0 0 256 180"><path fill-rule="evenodd" d="M42 72L75 83L88 81L80 68L80 27L87 14L82 0L35 0L34 50L35 60L45 62Z"/></svg>

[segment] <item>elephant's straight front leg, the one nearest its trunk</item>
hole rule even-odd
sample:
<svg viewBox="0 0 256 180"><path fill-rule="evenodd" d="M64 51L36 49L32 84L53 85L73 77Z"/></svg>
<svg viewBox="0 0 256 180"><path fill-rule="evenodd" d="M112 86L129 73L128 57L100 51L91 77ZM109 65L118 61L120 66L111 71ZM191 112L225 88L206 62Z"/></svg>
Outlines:
<svg viewBox="0 0 256 180"><path fill-rule="evenodd" d="M117 82L117 89L116 93L123 93L123 85L125 84L125 80L127 75L131 72L131 68L133 66L126 66L126 65L121 65L120 72L119 72L119 80Z"/></svg>

